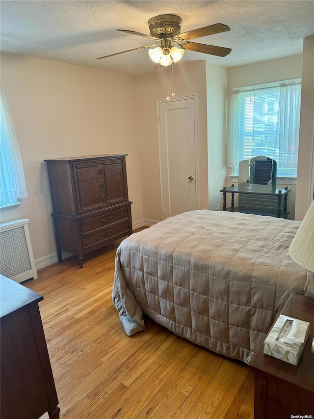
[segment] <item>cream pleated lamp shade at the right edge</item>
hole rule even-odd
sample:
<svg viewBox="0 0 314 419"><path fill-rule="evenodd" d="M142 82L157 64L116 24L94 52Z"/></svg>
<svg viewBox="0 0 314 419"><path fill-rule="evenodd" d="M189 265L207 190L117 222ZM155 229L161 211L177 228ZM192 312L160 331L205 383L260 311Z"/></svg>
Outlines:
<svg viewBox="0 0 314 419"><path fill-rule="evenodd" d="M300 266L314 272L314 201L290 244L289 255Z"/></svg>

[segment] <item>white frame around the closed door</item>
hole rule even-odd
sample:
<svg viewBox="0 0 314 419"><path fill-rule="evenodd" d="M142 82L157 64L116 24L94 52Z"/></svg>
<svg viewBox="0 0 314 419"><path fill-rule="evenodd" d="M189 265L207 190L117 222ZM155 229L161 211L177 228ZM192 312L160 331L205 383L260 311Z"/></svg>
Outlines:
<svg viewBox="0 0 314 419"><path fill-rule="evenodd" d="M170 99L170 101L167 100L157 100L157 125L158 125L158 153L159 153L159 178L160 178L160 193L161 193L161 215L162 215L162 221L165 220L165 214L164 214L164 196L163 196L163 178L162 178L162 155L161 155L161 136L160 136L160 112L159 112L159 105L162 103L169 103L169 102L178 102L181 100L186 99L193 99L194 102L194 153L195 153L195 192L196 192L196 209L199 208L199 201L198 201L198 139L197 139L197 96L196 95L189 95L189 96L180 96L173 99Z"/></svg>

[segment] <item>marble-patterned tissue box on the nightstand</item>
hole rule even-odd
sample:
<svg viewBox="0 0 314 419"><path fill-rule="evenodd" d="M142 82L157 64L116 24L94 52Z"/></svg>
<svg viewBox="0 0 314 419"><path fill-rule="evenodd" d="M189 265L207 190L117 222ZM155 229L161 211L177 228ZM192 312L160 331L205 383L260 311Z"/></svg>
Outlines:
<svg viewBox="0 0 314 419"><path fill-rule="evenodd" d="M264 340L264 354L297 365L309 337L309 327L309 322L281 314Z"/></svg>

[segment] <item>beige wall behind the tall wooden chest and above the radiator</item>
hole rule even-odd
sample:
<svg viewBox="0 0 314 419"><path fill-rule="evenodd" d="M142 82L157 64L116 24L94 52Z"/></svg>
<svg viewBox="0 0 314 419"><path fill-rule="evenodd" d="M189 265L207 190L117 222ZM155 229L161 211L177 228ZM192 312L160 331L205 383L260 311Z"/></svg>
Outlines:
<svg viewBox="0 0 314 419"><path fill-rule="evenodd" d="M6 95L24 165L28 198L1 222L29 218L38 267L52 263L52 202L44 159L126 153L132 221L142 223L135 84L130 76L27 56L1 55Z"/></svg>

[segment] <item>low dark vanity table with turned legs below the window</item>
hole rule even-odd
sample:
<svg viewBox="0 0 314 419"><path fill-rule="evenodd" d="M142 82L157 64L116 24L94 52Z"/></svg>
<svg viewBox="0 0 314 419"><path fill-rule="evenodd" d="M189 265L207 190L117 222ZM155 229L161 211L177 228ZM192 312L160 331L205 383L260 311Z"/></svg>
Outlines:
<svg viewBox="0 0 314 419"><path fill-rule="evenodd" d="M266 189L248 186L239 188L237 186L224 187L220 190L223 193L223 210L230 212L243 212L245 214L270 215L272 217L287 218L288 193L291 189ZM286 189L287 188L287 189ZM231 207L227 208L227 193L231 194ZM241 194L238 206L235 206L235 194Z"/></svg>

